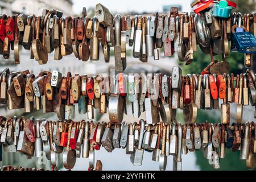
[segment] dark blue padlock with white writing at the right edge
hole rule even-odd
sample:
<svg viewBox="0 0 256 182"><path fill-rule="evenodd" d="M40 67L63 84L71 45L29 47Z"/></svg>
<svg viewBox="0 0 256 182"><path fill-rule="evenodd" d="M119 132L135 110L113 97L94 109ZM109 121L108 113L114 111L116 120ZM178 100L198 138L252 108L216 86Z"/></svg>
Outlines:
<svg viewBox="0 0 256 182"><path fill-rule="evenodd" d="M236 32L233 35L233 43L236 46L238 52L241 53L256 53L256 39L251 32L245 31L241 26L242 24L242 15L238 15L238 27Z"/></svg>

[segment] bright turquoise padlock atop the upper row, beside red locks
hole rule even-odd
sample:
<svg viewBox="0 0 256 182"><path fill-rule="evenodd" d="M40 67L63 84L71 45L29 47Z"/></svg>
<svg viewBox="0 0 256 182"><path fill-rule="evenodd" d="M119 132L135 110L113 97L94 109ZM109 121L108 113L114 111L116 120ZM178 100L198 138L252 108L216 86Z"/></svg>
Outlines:
<svg viewBox="0 0 256 182"><path fill-rule="evenodd" d="M210 13L213 16L221 18L229 18L231 16L232 7L228 6L228 2L221 0L218 3L214 3Z"/></svg>

